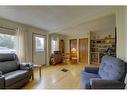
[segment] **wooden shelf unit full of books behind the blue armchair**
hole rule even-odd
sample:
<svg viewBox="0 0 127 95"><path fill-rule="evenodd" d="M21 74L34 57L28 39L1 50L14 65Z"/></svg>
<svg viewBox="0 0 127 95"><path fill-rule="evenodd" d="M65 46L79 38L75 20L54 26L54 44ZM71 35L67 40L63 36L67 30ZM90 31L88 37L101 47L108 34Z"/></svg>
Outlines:
<svg viewBox="0 0 127 95"><path fill-rule="evenodd" d="M110 52L107 52L110 49ZM104 55L116 56L115 38L90 40L90 63L100 64Z"/></svg>

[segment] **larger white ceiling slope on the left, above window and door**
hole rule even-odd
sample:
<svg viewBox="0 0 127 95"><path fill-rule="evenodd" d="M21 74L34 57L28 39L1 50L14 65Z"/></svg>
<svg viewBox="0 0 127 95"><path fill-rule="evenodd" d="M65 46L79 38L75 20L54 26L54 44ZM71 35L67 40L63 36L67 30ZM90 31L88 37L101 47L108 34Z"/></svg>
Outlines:
<svg viewBox="0 0 127 95"><path fill-rule="evenodd" d="M0 17L35 26L49 32L66 30L88 17L105 13L103 6L0 6Z"/></svg>

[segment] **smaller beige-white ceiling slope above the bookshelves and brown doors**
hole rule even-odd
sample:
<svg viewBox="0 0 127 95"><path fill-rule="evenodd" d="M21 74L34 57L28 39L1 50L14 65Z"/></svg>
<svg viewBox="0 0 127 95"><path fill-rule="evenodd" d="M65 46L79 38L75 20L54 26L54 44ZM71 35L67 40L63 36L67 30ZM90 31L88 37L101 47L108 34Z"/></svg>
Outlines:
<svg viewBox="0 0 127 95"><path fill-rule="evenodd" d="M86 35L86 33L88 33L89 31L113 32L115 26L116 26L115 15L108 15L92 21L81 23L74 27L67 28L58 33L67 36L81 37Z"/></svg>

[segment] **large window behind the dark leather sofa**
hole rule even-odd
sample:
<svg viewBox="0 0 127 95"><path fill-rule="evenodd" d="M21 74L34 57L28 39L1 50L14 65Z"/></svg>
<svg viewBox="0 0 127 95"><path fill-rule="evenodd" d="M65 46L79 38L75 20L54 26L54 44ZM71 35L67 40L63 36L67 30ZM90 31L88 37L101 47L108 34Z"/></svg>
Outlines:
<svg viewBox="0 0 127 95"><path fill-rule="evenodd" d="M16 36L0 33L0 53L16 52Z"/></svg>

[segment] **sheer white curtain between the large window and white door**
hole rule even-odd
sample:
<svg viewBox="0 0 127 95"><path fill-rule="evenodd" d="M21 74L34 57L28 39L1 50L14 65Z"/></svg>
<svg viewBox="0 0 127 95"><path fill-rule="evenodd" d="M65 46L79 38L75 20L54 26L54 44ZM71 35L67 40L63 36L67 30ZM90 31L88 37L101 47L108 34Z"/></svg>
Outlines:
<svg viewBox="0 0 127 95"><path fill-rule="evenodd" d="M27 32L24 27L18 27L16 30L17 37L17 54L21 62L28 62L28 43Z"/></svg>

